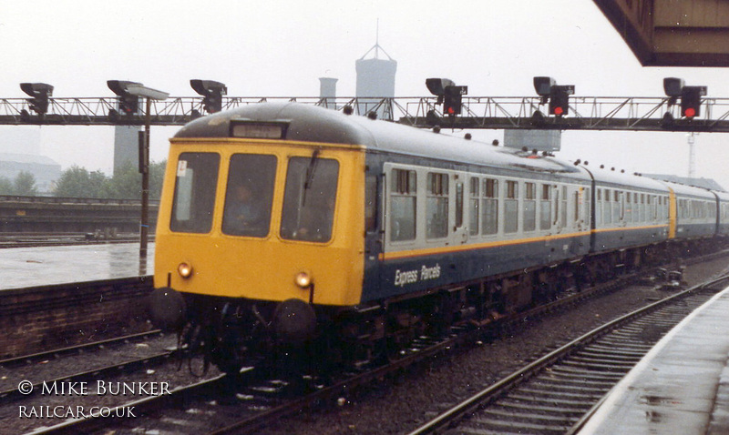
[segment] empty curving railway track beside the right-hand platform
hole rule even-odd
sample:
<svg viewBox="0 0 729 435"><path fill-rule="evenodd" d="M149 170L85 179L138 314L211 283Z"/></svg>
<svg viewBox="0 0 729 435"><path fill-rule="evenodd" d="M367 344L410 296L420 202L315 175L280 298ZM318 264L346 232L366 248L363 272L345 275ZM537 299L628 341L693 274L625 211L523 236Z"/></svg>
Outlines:
<svg viewBox="0 0 729 435"><path fill-rule="evenodd" d="M653 345L718 290L720 278L664 298L575 339L412 431L564 434L580 422Z"/></svg>

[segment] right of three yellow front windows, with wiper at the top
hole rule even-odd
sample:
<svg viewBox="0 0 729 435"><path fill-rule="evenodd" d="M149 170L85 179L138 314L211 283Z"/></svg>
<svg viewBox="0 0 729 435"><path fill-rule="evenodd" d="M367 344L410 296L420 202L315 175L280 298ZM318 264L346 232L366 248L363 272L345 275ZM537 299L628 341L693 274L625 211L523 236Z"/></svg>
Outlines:
<svg viewBox="0 0 729 435"><path fill-rule="evenodd" d="M339 162L331 158L292 157L283 190L281 237L326 242L332 238Z"/></svg>

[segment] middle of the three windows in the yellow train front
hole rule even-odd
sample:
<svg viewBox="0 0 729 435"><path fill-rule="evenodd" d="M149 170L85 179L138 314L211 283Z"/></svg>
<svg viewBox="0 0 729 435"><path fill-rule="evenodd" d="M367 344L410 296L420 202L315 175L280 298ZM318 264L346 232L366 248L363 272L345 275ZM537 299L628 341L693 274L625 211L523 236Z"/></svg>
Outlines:
<svg viewBox="0 0 729 435"><path fill-rule="evenodd" d="M271 226L276 157L234 154L228 171L222 232L264 238Z"/></svg>

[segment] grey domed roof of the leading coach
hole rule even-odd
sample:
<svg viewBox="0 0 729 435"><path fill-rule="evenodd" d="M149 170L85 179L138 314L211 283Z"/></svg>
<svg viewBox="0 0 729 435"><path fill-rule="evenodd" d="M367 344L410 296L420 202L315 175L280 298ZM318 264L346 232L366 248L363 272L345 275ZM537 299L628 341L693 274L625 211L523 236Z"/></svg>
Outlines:
<svg viewBox="0 0 729 435"><path fill-rule="evenodd" d="M183 126L175 137L231 137L237 123L282 125L286 140L358 145L370 151L590 178L584 169L555 158L297 103L259 103L205 116Z"/></svg>

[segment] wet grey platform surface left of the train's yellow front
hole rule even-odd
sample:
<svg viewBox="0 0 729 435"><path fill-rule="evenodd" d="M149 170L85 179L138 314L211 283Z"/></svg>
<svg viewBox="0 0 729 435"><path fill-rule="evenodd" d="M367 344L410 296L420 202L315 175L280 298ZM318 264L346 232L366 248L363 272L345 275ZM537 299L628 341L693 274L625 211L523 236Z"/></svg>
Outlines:
<svg viewBox="0 0 729 435"><path fill-rule="evenodd" d="M146 270L139 268L139 242L0 249L0 291L137 277L153 271L154 243L149 244Z"/></svg>

